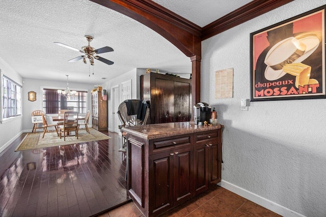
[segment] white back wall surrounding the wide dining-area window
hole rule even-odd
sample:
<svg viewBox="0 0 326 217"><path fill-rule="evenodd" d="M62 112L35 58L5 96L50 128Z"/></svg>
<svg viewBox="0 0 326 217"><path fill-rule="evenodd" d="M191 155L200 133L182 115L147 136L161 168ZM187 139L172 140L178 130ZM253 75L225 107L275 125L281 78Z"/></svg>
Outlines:
<svg viewBox="0 0 326 217"><path fill-rule="evenodd" d="M67 87L67 82L62 81L49 81L49 80L38 80L38 79L23 79L23 87L22 87L22 114L23 114L23 124L22 129L24 132L32 132L33 123L31 121L31 114L35 110L43 110L43 96L41 87L50 87L50 88L60 88L65 89ZM94 85L84 84L84 83L74 83L69 82L69 88L74 90L88 90L88 109L91 110L91 91L94 88ZM28 100L28 92L34 91L36 92L36 101L31 102ZM92 111L91 111L92 112ZM50 118L47 118L49 122L51 122ZM92 123L92 118L89 120L89 125ZM40 125L41 126L41 125Z"/></svg>

